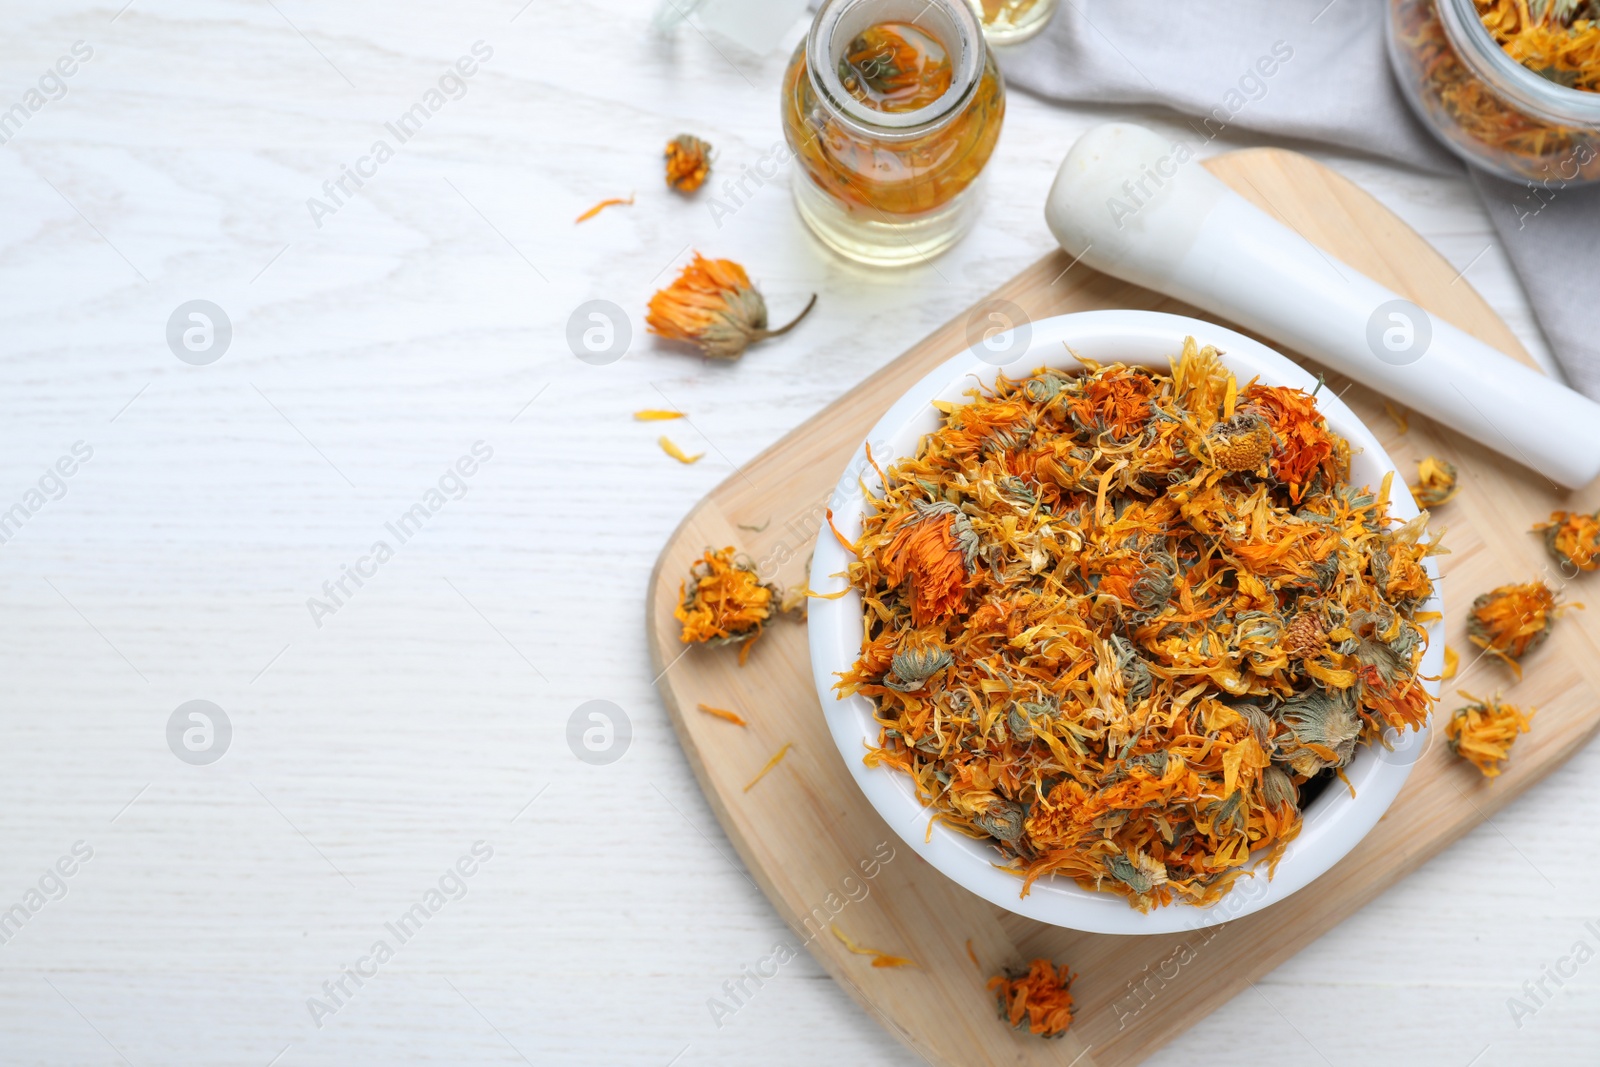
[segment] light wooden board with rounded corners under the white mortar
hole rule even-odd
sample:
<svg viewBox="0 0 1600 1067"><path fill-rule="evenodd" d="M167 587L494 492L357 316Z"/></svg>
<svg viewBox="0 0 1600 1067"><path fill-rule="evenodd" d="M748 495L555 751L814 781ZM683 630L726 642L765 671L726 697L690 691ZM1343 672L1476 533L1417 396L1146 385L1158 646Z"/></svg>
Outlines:
<svg viewBox="0 0 1600 1067"><path fill-rule="evenodd" d="M1438 253L1349 181L1278 149L1230 152L1206 166L1307 242L1533 363ZM1206 318L1149 290L1069 264L1064 253L1045 256L994 296L1034 318L1096 307ZM1504 689L1517 704L1538 707L1533 731L1517 742L1507 773L1493 782L1454 760L1435 731L1435 742L1371 835L1320 880L1262 912L1171 936L1058 929L1011 915L946 880L867 805L822 720L803 625L776 622L739 667L733 648L685 651L672 617L678 582L707 545L738 545L760 565L763 577L782 585L805 581L827 498L851 453L914 381L966 347L965 323L963 314L851 389L683 520L650 587L646 625L658 685L701 789L795 942L906 1045L933 1064L960 1067L1136 1064L1544 777L1595 733L1600 609L1578 611L1557 624L1546 646L1525 662L1522 681L1498 661L1477 657L1464 617L1477 593L1541 574L1552 585L1566 585L1570 600L1594 601L1594 592L1582 597L1573 589L1586 576L1568 582L1528 528L1554 507L1594 510L1600 488L1566 494L1419 416L1402 432L1381 397L1330 374L1330 386L1378 434L1402 472L1414 472L1426 454L1461 469L1461 494L1435 515L1435 530L1448 528L1445 544L1451 549L1442 558L1446 638L1461 653L1461 672L1445 683L1442 710L1459 705L1458 688L1478 694ZM706 715L696 710L698 702L736 709L750 725L739 728ZM789 757L744 792L786 742L794 742ZM885 862L885 856L891 857ZM872 968L867 957L845 950L829 923L918 966ZM968 957L968 941L981 966ZM1013 1032L984 989L990 974L1035 955L1064 961L1078 974L1072 987L1077 1021L1062 1040Z"/></svg>

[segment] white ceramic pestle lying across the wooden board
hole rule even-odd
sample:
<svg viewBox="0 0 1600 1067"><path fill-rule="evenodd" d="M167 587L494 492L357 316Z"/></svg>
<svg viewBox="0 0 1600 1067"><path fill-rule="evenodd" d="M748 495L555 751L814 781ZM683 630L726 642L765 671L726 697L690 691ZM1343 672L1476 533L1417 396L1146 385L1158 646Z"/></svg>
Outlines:
<svg viewBox="0 0 1600 1067"><path fill-rule="evenodd" d="M1566 488L1600 475L1600 405L1317 250L1144 126L1078 138L1045 219L1090 267L1280 341Z"/></svg>

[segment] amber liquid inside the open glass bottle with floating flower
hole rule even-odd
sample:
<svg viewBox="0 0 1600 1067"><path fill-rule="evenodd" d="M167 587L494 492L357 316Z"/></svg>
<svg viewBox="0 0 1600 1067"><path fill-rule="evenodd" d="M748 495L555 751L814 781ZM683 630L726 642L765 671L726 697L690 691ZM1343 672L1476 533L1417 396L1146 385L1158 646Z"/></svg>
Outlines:
<svg viewBox="0 0 1600 1067"><path fill-rule="evenodd" d="M870 110L912 112L949 91L952 61L931 34L909 22L880 22L845 48L838 78ZM989 56L952 122L910 139L862 136L819 106L802 42L784 77L782 114L806 174L848 211L882 219L933 211L973 184L1000 136L1005 94Z"/></svg>

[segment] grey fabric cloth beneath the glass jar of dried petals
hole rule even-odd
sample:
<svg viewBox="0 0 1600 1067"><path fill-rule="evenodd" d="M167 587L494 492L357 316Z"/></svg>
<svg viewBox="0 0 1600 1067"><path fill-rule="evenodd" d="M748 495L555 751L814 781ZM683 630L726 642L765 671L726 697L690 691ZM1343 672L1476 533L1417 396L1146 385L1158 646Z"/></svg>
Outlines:
<svg viewBox="0 0 1600 1067"><path fill-rule="evenodd" d="M1197 149L1250 130L1461 173L1402 96L1387 18L1382 0L1062 0L1002 66L1046 101L1171 107ZM1600 400L1600 186L1467 170L1568 381Z"/></svg>

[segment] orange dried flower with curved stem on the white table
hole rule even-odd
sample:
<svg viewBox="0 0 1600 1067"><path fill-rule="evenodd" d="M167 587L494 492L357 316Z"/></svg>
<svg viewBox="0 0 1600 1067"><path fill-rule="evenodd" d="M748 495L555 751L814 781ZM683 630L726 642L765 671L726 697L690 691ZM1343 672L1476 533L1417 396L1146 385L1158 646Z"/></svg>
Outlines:
<svg viewBox="0 0 1600 1067"><path fill-rule="evenodd" d="M669 341L693 344L715 360L736 360L757 341L786 334L816 306L816 294L787 325L766 328L766 301L731 259L694 253L677 280L650 298L645 322Z"/></svg>

